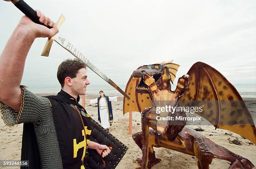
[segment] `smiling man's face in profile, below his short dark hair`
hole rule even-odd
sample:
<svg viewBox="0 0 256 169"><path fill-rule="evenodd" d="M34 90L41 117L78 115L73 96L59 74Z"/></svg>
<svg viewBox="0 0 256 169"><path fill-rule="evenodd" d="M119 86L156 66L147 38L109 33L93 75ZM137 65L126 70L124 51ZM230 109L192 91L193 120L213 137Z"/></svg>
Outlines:
<svg viewBox="0 0 256 169"><path fill-rule="evenodd" d="M72 90L77 95L84 95L87 85L90 85L90 82L85 68L82 68L77 72L77 77L72 78Z"/></svg>

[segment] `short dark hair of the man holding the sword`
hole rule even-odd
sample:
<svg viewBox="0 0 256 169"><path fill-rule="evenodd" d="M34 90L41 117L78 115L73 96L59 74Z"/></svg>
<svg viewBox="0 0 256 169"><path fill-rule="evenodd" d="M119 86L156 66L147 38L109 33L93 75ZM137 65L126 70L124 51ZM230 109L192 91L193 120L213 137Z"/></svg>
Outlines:
<svg viewBox="0 0 256 169"><path fill-rule="evenodd" d="M64 86L64 80L66 77L77 77L77 72L82 68L86 68L86 66L83 62L77 59L67 59L61 62L57 71L57 78L61 87Z"/></svg>

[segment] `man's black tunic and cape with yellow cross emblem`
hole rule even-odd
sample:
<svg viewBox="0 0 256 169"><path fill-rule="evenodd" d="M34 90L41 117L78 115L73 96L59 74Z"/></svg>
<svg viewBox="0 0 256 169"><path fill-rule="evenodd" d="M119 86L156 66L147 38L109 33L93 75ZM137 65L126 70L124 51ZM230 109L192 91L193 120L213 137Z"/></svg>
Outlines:
<svg viewBox="0 0 256 169"><path fill-rule="evenodd" d="M64 169L68 167L80 169L81 160L92 132L90 116L78 103L79 96L76 101L74 97L61 90L56 96L47 96L47 98L51 102L63 167ZM82 126L79 114L70 105L79 109L85 125L84 127ZM84 139L84 128L86 139ZM87 145L85 146L85 144ZM29 160L29 168L40 168L36 135L32 123L25 123L23 126L21 160Z"/></svg>

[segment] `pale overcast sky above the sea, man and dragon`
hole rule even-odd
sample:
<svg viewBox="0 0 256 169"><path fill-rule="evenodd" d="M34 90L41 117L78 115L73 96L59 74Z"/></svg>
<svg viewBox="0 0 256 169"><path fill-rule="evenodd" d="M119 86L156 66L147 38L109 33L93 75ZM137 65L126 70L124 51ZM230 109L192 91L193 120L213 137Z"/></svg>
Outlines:
<svg viewBox="0 0 256 169"><path fill-rule="evenodd" d="M255 0L25 1L55 21L63 13L60 34L119 85L137 67L168 60L180 65L178 76L201 61L231 83L256 84ZM0 52L22 15L0 1ZM45 42L35 40L28 53L24 85L58 85L58 65L73 58L55 42L50 56L41 57ZM88 78L107 84L91 70Z"/></svg>

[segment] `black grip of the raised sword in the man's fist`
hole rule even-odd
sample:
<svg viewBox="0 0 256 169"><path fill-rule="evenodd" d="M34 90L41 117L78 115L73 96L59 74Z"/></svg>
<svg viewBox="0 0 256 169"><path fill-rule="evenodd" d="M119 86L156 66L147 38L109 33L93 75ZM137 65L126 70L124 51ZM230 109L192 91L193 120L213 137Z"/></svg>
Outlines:
<svg viewBox="0 0 256 169"><path fill-rule="evenodd" d="M40 25L44 25L43 23L41 23L39 21L39 18L36 15L36 11L33 10L32 7L30 7L25 1L23 0L12 0L12 3L15 5L15 7L17 7L21 12L23 12L27 17L29 17L33 22L40 24ZM44 25L46 26L46 25ZM52 27L46 26L49 29L51 29Z"/></svg>

